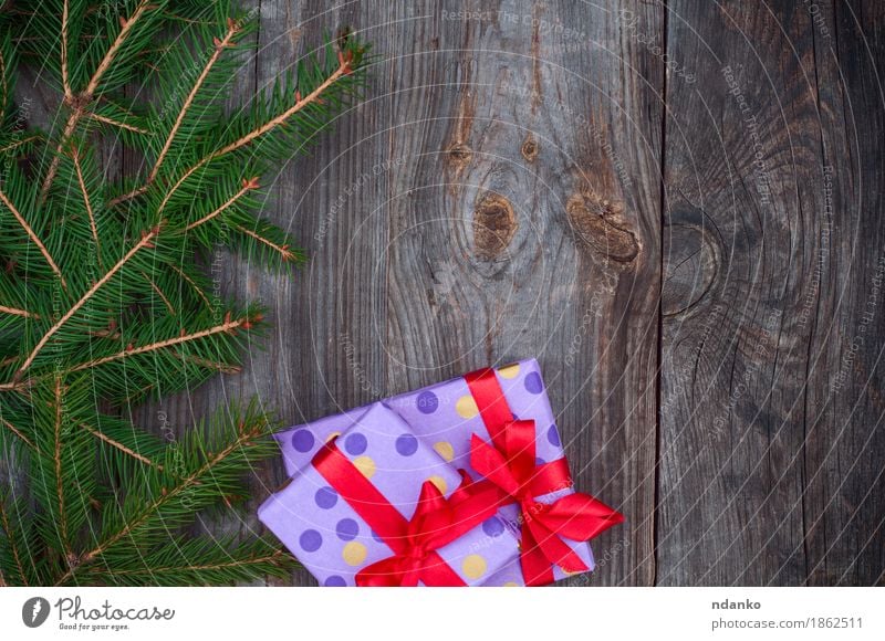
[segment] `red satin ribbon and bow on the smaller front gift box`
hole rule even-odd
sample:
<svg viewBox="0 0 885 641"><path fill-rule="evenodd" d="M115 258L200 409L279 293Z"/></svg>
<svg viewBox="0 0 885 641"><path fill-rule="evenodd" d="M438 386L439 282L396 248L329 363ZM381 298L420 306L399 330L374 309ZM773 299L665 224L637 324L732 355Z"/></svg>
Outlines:
<svg viewBox="0 0 885 641"><path fill-rule="evenodd" d="M356 574L357 586L464 586L465 582L436 550L494 515L499 492L470 484L446 500L436 485L425 481L412 519L363 475L335 445L326 443L312 464L354 512L394 551Z"/></svg>

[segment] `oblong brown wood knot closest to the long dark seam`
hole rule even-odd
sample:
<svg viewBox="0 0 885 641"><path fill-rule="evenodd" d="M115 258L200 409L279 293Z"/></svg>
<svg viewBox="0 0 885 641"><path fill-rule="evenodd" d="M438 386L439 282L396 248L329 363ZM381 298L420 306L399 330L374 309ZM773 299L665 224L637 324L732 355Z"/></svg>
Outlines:
<svg viewBox="0 0 885 641"><path fill-rule="evenodd" d="M621 220L621 204L575 193L565 203L565 211L579 238L606 259L626 264L638 255L639 241Z"/></svg>

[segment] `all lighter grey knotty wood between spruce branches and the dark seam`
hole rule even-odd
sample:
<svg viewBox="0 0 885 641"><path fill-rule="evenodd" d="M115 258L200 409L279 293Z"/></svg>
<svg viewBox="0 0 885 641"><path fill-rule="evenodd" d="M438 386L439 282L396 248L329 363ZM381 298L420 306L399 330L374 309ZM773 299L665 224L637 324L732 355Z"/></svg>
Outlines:
<svg viewBox="0 0 885 641"><path fill-rule="evenodd" d="M369 102L274 183L304 274L223 265L278 329L191 399L257 391L294 423L537 356L577 486L628 519L593 581L649 584L663 66L614 3L322 9L261 2L259 85L303 51L294 33L351 23L382 55ZM659 32L660 9L634 10Z"/></svg>

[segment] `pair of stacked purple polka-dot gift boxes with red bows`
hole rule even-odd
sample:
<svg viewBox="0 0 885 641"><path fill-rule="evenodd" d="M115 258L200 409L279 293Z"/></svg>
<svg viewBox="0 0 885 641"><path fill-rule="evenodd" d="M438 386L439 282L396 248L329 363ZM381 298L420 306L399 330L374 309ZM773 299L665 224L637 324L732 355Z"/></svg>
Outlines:
<svg viewBox="0 0 885 641"><path fill-rule="evenodd" d="M277 434L261 521L323 586L544 585L623 517L572 487L535 360Z"/></svg>

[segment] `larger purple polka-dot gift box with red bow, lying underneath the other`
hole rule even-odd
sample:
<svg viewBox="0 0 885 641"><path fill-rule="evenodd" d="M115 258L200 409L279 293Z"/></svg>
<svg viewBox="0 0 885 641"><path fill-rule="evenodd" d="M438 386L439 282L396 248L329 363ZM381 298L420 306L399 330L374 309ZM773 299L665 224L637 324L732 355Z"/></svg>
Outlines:
<svg viewBox="0 0 885 641"><path fill-rule="evenodd" d="M456 469L465 470L473 480L483 480L487 475L483 472L499 467L512 469L527 477L543 477L543 483L533 484L538 494L514 498L500 508L498 516L509 534L522 539L523 548L527 548L525 538L532 538L529 530L534 529L534 538L544 547L546 556L561 563L549 564L549 569L544 571L539 567L538 558L528 559L528 566L533 570L530 572L532 576L527 577L528 553L523 551L522 558L512 559L499 572L487 578L483 585L525 585L527 578L530 585L542 585L593 569L593 554L586 539L623 518L598 502L580 504L577 497L572 496L575 493L571 486L568 462L540 367L534 359L498 370L471 372L391 397L383 402L412 427L424 444L433 448ZM366 407L355 408L275 434L289 474L295 474L308 465L326 440L358 423L366 411ZM520 434L519 445L502 435L508 430L511 434ZM490 462L489 456L493 459L493 452L489 450L497 446L504 451L508 442L510 451L503 452L503 459ZM483 448L483 444L487 446ZM488 455L478 455L478 450ZM525 461L529 454L531 461ZM477 470L476 460L483 459L487 469ZM517 461L519 464L516 464ZM498 483L506 486L512 484L513 480L502 479ZM571 507L575 516L559 514L563 507ZM595 528L586 524L585 517L589 515L597 517ZM561 532L549 532L549 527L542 527L544 523L539 523L543 521L546 524L555 522L556 527L562 524L562 529L575 535L575 538L561 536ZM581 524L584 524L583 529L579 527ZM533 549L538 546L528 547Z"/></svg>

